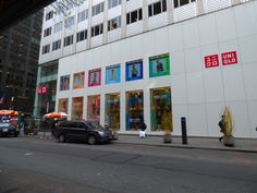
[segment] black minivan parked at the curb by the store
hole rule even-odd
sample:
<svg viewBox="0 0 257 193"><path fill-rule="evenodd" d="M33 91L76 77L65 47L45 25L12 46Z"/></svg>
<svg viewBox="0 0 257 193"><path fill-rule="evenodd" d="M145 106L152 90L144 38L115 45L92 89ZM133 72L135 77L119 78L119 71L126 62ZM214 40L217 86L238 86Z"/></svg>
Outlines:
<svg viewBox="0 0 257 193"><path fill-rule="evenodd" d="M86 141L94 145L97 142L109 142L112 133L103 126L91 121L64 121L57 125L57 138L59 142L69 140Z"/></svg>

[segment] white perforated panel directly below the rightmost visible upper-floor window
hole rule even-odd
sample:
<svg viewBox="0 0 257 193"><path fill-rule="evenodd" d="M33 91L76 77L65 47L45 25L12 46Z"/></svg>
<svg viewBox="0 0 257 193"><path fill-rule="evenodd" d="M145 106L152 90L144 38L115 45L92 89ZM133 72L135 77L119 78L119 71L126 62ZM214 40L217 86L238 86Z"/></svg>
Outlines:
<svg viewBox="0 0 257 193"><path fill-rule="evenodd" d="M174 9L174 22L180 22L191 17L195 17L197 14L196 2L185 4Z"/></svg>

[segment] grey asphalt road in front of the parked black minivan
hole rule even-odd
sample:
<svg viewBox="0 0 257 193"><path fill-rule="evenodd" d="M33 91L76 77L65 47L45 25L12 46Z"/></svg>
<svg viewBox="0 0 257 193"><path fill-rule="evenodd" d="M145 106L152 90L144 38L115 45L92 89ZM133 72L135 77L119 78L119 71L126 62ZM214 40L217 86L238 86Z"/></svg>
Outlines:
<svg viewBox="0 0 257 193"><path fill-rule="evenodd" d="M0 138L0 193L257 193L257 155Z"/></svg>

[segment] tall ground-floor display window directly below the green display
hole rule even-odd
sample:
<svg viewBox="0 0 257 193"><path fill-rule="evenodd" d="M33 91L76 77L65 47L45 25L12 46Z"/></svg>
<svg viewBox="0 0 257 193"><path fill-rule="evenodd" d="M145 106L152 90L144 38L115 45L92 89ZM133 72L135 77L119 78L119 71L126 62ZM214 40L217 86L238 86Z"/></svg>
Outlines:
<svg viewBox="0 0 257 193"><path fill-rule="evenodd" d="M172 131L171 88L150 89L151 131Z"/></svg>

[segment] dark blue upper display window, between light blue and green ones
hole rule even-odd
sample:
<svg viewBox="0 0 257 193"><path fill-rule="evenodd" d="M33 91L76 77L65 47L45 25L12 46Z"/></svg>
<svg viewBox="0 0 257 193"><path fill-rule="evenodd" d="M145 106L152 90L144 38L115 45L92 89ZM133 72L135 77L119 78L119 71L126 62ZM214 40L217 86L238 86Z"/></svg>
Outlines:
<svg viewBox="0 0 257 193"><path fill-rule="evenodd" d="M143 61L136 60L126 62L126 81L143 79Z"/></svg>

